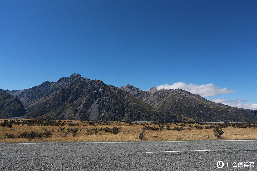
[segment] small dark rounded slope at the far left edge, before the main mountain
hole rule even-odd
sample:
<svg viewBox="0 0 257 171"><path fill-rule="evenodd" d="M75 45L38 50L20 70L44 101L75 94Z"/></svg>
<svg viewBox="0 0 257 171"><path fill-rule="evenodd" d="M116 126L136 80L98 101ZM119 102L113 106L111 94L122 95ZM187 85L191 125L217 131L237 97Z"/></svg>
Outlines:
<svg viewBox="0 0 257 171"><path fill-rule="evenodd" d="M25 114L21 101L0 89L0 118L21 117Z"/></svg>

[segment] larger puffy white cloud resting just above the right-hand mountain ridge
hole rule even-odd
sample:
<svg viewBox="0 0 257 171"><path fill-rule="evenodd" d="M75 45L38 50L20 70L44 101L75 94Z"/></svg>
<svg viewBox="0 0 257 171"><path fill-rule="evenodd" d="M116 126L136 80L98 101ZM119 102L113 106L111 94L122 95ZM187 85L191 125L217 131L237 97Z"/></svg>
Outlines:
<svg viewBox="0 0 257 171"><path fill-rule="evenodd" d="M182 90L186 90L192 94L199 94L202 97L211 97L211 96L218 96L219 94L226 94L226 93L235 93L235 90L228 90L226 87L218 88L214 86L212 83L210 84L203 84L203 85L196 85L196 84L186 84L177 82L172 85L164 84L160 86L156 86L158 90L165 88L165 89L177 89L180 88Z"/></svg>

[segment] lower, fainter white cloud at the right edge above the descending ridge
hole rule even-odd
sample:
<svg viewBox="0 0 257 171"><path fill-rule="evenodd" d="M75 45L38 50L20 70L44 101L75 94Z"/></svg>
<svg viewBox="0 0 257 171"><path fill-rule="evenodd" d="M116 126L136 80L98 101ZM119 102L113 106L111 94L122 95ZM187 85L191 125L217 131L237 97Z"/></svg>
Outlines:
<svg viewBox="0 0 257 171"><path fill-rule="evenodd" d="M244 109L255 109L257 110L257 103L242 103L247 102L247 100L226 100L225 98L215 98L215 99L208 99L215 103L222 103L224 105L233 106L233 107L240 107Z"/></svg>

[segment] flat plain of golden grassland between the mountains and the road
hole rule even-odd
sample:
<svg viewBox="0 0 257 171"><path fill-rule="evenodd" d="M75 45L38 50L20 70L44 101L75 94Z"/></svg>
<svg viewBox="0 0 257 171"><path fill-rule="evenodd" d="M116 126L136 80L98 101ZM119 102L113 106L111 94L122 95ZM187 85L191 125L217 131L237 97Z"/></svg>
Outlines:
<svg viewBox="0 0 257 171"><path fill-rule="evenodd" d="M222 127L224 134L222 139L257 139L257 124L253 123L170 123L170 122L91 122L91 121L67 121L67 120L27 120L27 119L0 119L0 124L11 123L12 127L0 125L0 143L15 142L108 142L108 141L139 141L139 134L143 128L155 127L161 130L145 130L144 141L171 141L171 140L215 140L213 128ZM77 126L70 126L76 124ZM132 125L133 124L133 125ZM181 125L182 124L182 125ZM61 126L62 125L62 126ZM167 129L167 126L170 129ZM197 126L203 129L197 129ZM62 131L61 128L64 128ZM120 128L118 134L106 132L100 128ZM174 127L182 127L184 130L172 130ZM64 136L68 128L78 128L78 135L70 132ZM96 129L97 132L89 131ZM99 130L100 129L100 130ZM49 130L50 137L18 138L18 135L26 131L42 132ZM90 133L91 132L91 133ZM15 138L6 138L6 133L15 135ZM92 135L90 135L92 134Z"/></svg>

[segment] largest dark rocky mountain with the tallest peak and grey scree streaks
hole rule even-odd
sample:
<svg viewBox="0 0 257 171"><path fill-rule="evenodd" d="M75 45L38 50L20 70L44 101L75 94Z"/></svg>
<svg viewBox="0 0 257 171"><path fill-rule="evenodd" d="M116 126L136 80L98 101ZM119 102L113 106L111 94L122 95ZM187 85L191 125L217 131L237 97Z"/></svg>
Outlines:
<svg viewBox="0 0 257 171"><path fill-rule="evenodd" d="M103 81L79 74L44 82L25 90L6 90L21 99L28 110L24 118L124 121L182 121L158 111L129 93Z"/></svg>

